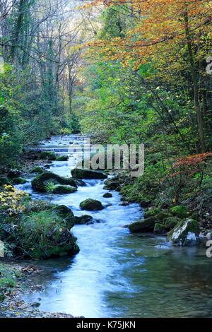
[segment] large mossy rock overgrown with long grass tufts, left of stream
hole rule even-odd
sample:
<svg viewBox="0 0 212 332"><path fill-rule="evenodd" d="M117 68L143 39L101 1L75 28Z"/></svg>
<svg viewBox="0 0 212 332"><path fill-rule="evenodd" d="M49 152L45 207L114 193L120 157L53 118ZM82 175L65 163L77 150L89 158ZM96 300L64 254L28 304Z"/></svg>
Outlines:
<svg viewBox="0 0 212 332"><path fill-rule="evenodd" d="M48 211L22 215L13 234L18 254L33 259L71 256L78 252L76 237L70 232L74 215L69 208L57 206Z"/></svg>

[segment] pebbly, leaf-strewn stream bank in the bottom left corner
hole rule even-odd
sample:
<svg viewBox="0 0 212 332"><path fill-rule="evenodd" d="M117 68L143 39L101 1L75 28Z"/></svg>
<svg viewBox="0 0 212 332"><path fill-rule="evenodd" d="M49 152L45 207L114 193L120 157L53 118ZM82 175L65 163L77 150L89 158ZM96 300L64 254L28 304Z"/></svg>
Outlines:
<svg viewBox="0 0 212 332"><path fill-rule="evenodd" d="M70 314L41 312L39 302L27 303L23 300L25 293L44 290L42 285L36 283L37 275L42 275L44 271L16 261L0 261L0 271L0 318L73 318Z"/></svg>

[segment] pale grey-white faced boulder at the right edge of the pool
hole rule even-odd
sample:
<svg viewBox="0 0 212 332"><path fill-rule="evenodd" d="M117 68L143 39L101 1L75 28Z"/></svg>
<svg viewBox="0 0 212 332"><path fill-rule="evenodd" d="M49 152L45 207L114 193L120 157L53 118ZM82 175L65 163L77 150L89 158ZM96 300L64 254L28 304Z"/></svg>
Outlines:
<svg viewBox="0 0 212 332"><path fill-rule="evenodd" d="M182 221L168 234L168 239L175 245L195 245L199 239L199 223L193 219Z"/></svg>

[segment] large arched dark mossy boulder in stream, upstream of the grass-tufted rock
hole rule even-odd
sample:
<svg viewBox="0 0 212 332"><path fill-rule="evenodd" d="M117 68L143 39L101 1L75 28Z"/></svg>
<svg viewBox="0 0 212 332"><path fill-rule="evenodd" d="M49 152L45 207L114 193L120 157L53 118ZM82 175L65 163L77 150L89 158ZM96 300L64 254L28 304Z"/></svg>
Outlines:
<svg viewBox="0 0 212 332"><path fill-rule="evenodd" d="M46 192L49 182L53 182L55 185L62 184L67 186L74 186L77 188L76 182L71 178L59 177L59 175L52 172L43 172L37 175L32 181L32 186L35 191Z"/></svg>

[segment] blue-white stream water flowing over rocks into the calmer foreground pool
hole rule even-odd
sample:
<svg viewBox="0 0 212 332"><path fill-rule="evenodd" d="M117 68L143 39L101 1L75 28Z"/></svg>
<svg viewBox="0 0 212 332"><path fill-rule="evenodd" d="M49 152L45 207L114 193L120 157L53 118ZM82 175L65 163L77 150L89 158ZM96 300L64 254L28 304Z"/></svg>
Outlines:
<svg viewBox="0 0 212 332"><path fill-rule="evenodd" d="M68 162L53 162L50 171L70 176L76 165L83 136L53 137L41 147ZM87 147L88 148L88 147ZM172 248L165 237L131 235L124 227L142 218L138 204L120 206L120 196L103 198L104 182L86 180L73 194L54 195L53 203L64 204L75 215L83 215L79 204L86 198L102 201L104 210L89 212L99 223L76 225L80 253L72 258L37 262L45 273L37 283L45 292L25 295L28 302L40 302L40 309L85 317L187 317L212 316L212 261L197 247ZM34 198L30 182L18 186Z"/></svg>

